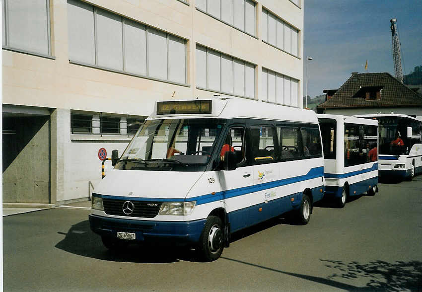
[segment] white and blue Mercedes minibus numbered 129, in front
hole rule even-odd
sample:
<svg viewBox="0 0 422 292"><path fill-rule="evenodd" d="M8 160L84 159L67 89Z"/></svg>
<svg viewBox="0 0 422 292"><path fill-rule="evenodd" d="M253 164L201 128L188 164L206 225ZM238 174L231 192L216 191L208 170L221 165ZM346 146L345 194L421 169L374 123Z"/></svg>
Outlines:
<svg viewBox="0 0 422 292"><path fill-rule="evenodd" d="M135 240L217 259L230 234L289 212L306 224L324 195L316 114L240 98L156 102L92 193L109 249ZM133 242L133 241L132 241Z"/></svg>

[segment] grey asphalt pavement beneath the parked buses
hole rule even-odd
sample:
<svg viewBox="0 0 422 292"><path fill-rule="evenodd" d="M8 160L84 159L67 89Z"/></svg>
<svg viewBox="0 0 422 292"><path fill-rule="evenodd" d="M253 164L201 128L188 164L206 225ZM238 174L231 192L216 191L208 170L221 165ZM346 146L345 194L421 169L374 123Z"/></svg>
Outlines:
<svg viewBox="0 0 422 292"><path fill-rule="evenodd" d="M307 225L281 217L237 232L211 263L184 249L109 252L89 229L89 209L11 215L3 217L3 289L421 290L421 207L421 175L380 184L374 197L356 197L343 209L318 204Z"/></svg>

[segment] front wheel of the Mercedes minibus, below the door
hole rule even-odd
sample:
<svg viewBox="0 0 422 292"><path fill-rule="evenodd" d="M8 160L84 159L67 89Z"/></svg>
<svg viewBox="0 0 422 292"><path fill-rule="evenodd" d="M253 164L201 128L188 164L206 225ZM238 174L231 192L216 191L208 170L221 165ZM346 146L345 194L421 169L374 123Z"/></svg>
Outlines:
<svg viewBox="0 0 422 292"><path fill-rule="evenodd" d="M218 259L224 249L224 227L217 216L209 216L198 243L198 253L202 260L212 262Z"/></svg>

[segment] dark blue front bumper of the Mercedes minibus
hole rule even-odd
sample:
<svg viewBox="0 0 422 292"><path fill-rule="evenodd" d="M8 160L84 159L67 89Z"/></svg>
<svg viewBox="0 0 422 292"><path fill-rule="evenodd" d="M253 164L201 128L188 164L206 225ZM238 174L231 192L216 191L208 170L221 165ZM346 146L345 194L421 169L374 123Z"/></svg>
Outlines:
<svg viewBox="0 0 422 292"><path fill-rule="evenodd" d="M136 241L145 244L189 246L199 241L207 219L195 221L149 221L117 219L90 214L91 230L101 236L117 239L117 232L136 234Z"/></svg>

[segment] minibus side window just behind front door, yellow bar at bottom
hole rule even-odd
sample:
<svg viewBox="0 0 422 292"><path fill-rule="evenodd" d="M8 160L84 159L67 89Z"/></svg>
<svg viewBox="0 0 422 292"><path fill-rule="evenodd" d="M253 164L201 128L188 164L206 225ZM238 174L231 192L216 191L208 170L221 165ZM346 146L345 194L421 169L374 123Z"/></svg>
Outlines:
<svg viewBox="0 0 422 292"><path fill-rule="evenodd" d="M269 126L251 127L252 151L256 162L277 159L274 148L274 129Z"/></svg>

